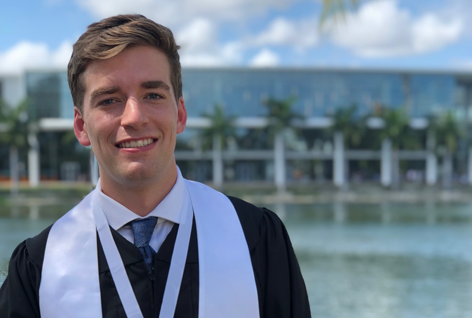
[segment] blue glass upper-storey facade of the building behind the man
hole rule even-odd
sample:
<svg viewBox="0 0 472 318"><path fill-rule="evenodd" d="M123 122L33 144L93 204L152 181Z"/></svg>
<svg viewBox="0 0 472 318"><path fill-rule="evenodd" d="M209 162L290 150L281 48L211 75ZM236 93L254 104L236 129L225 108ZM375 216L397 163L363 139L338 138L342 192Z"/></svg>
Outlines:
<svg viewBox="0 0 472 318"><path fill-rule="evenodd" d="M295 112L306 117L353 104L360 115L382 106L424 117L457 106L459 90L454 73L367 70L187 68L182 82L189 117L211 113L215 104L228 115L264 116L265 99L291 96ZM73 118L66 72L29 72L26 85L32 118Z"/></svg>

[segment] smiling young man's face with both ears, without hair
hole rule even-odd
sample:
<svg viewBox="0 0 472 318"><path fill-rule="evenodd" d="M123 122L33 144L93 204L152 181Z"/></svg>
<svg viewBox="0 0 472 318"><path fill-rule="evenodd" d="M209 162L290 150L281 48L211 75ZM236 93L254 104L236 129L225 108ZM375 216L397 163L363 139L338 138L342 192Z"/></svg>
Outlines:
<svg viewBox="0 0 472 318"><path fill-rule="evenodd" d="M76 109L79 142L92 145L101 178L120 184L158 181L174 163L176 134L187 118L184 100L170 82L167 57L138 46L83 73L82 115Z"/></svg>

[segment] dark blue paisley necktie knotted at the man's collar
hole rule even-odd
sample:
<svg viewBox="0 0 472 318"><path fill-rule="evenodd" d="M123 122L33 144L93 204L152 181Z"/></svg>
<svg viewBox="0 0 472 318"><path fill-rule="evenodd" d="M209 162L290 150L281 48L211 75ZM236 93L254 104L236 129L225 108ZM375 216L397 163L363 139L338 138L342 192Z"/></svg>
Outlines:
<svg viewBox="0 0 472 318"><path fill-rule="evenodd" d="M157 224L157 217L150 216L145 219L136 219L127 223L133 228L133 235L135 236L135 246L139 249L139 252L143 254L144 262L148 271L152 271L153 258L156 252L149 246L151 241L152 232Z"/></svg>

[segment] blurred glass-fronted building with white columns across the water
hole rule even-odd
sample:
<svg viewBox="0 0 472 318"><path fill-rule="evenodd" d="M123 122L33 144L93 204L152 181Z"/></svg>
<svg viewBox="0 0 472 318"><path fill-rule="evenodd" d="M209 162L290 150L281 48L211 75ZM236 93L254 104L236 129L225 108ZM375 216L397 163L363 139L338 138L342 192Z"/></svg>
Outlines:
<svg viewBox="0 0 472 318"><path fill-rule="evenodd" d="M189 118L176 159L189 179L278 188L472 182L469 139L460 133L468 129L472 73L228 67L184 68L182 77ZM32 185L90 179L90 150L72 131L67 73L4 76L0 88L10 106L27 101L30 147L20 149L20 177ZM447 134L454 145L441 143ZM1 151L0 176L7 179L8 148Z"/></svg>

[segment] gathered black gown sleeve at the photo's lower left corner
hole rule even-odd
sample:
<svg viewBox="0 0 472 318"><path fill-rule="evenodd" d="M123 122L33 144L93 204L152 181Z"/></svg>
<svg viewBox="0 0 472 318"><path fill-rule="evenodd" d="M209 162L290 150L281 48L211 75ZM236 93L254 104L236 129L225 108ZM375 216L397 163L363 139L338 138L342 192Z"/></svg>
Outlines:
<svg viewBox="0 0 472 318"><path fill-rule="evenodd" d="M41 271L31 260L24 241L13 252L8 276L0 287L0 317L40 318L40 281Z"/></svg>

